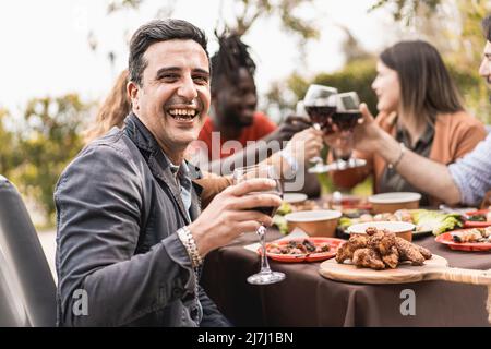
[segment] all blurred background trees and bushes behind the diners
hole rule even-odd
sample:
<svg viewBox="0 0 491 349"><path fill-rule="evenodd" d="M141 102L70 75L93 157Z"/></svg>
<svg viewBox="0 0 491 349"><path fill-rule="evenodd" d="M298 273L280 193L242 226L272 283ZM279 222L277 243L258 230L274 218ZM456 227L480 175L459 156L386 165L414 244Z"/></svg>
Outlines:
<svg viewBox="0 0 491 349"><path fill-rule="evenodd" d="M139 11L144 1L110 1L107 13L109 15L122 9ZM242 11L237 12L237 17L227 25L246 35L260 17L279 19L285 29L296 35L299 50L302 50L320 34L311 21L295 15L298 7L310 2L312 0L237 0L233 3ZM175 1L166 2L167 15L173 4ZM489 1L479 0L373 0L367 15L374 11L390 11L394 27L388 29L395 31L393 34L398 38L418 37L435 45L464 95L468 110L489 124L491 109L488 91L477 72L484 43L480 20L490 10ZM349 28L342 29L346 34L343 69L320 72L314 76L295 71L285 80L272 84L268 93L261 96L262 109L285 118L295 110L308 85L319 83L336 86L340 92L358 92L375 113L376 98L370 86L375 77L378 52L367 51ZM89 40L94 38L89 36ZM248 44L254 46L254 43ZM113 57L109 55L109 59ZM25 200L36 208L43 217L38 220L39 225L53 224L55 184L62 169L82 148L82 131L93 120L96 105L95 100L81 100L77 94L67 94L33 98L15 115L0 108L0 174L15 183ZM320 179L326 190L333 190L327 177ZM369 180L356 188L355 193L369 194L370 190Z"/></svg>

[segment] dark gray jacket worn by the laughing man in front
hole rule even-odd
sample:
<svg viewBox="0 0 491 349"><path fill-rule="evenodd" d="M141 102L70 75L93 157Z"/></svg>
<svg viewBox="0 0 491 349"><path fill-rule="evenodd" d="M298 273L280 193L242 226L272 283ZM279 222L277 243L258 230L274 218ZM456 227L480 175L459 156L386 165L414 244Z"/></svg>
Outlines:
<svg viewBox="0 0 491 349"><path fill-rule="evenodd" d="M200 193L193 183L191 219ZM76 156L55 202L58 325L197 325L195 277L175 233L190 221L167 157L136 116ZM199 289L202 325L227 325Z"/></svg>

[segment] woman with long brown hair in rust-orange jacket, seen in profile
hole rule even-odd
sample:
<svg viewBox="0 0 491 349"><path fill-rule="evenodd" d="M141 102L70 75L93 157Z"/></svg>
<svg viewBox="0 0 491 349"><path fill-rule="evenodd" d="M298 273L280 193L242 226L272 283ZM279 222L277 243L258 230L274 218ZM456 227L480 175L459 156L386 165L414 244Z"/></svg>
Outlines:
<svg viewBox="0 0 491 349"><path fill-rule="evenodd" d="M409 149L448 165L486 137L484 125L465 111L440 53L430 44L400 41L385 49L376 71L372 88L379 98L380 113L375 122L395 137L402 155ZM364 105L361 109L363 113L369 112ZM333 143L332 139L326 142ZM337 185L351 188L373 174L375 193L418 192L397 172L399 158L388 164L375 153L358 152L356 156L367 159L367 166L334 172ZM435 198L423 194L421 205L436 203Z"/></svg>

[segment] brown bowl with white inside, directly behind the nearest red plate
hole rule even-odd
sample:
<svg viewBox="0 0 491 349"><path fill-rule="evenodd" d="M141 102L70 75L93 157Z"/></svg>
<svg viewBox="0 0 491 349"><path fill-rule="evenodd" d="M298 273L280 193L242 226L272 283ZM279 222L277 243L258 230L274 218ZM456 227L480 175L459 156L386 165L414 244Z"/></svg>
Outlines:
<svg viewBox="0 0 491 349"><path fill-rule="evenodd" d="M311 237L331 237L336 234L337 221L342 213L331 209L300 210L285 216L288 230L300 228Z"/></svg>

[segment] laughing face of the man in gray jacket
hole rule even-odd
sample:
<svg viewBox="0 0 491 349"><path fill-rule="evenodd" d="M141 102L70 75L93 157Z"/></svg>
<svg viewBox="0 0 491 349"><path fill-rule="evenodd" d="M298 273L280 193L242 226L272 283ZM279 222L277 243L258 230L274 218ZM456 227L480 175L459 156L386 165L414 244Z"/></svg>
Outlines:
<svg viewBox="0 0 491 349"><path fill-rule="evenodd" d="M209 109L209 65L193 40L153 44L142 86L129 84L133 111L170 156L197 139Z"/></svg>

